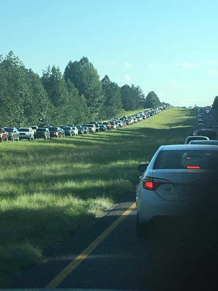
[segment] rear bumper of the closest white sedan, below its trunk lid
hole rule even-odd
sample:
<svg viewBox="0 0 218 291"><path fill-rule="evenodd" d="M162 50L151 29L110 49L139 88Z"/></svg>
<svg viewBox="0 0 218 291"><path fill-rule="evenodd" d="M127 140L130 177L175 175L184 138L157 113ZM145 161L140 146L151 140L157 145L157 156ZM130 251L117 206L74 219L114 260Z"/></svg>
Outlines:
<svg viewBox="0 0 218 291"><path fill-rule="evenodd" d="M218 203L206 201L168 201L150 190L143 191L137 199L137 213L140 223L155 216L182 216L186 218L217 217Z"/></svg>

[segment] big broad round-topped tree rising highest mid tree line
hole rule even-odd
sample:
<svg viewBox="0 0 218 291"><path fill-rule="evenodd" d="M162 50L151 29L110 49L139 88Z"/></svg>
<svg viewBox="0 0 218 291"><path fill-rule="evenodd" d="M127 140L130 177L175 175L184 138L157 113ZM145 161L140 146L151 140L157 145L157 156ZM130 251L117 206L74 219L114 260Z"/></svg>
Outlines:
<svg viewBox="0 0 218 291"><path fill-rule="evenodd" d="M93 120L100 118L105 95L97 70L88 58L83 57L79 62L70 61L64 71L64 78L66 81L69 79L79 90L79 94L84 96L89 109L89 118Z"/></svg>

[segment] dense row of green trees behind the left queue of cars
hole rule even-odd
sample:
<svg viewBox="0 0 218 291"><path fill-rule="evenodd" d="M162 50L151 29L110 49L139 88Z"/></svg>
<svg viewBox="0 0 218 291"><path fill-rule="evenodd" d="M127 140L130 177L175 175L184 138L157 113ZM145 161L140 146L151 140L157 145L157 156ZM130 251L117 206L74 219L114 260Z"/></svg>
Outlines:
<svg viewBox="0 0 218 291"><path fill-rule="evenodd" d="M40 77L12 51L0 55L0 102L1 126L78 124L161 105L154 92L145 97L139 86L101 80L87 57L70 61L64 74L53 65Z"/></svg>

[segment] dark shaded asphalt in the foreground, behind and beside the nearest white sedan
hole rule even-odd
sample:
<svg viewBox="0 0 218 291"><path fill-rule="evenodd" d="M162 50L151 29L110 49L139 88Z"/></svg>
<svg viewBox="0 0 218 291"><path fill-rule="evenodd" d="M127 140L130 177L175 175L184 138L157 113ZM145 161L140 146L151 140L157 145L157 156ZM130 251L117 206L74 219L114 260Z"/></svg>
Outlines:
<svg viewBox="0 0 218 291"><path fill-rule="evenodd" d="M54 247L44 262L15 277L5 288L52 288L48 285L78 258L105 229L134 205L132 195L104 217L96 218ZM136 236L136 210L99 243L54 288L113 290L206 289L216 284L217 223L192 224L159 217L144 239ZM81 256L79 256L81 257ZM59 278L60 279L60 278ZM53 284L53 283L52 283Z"/></svg>

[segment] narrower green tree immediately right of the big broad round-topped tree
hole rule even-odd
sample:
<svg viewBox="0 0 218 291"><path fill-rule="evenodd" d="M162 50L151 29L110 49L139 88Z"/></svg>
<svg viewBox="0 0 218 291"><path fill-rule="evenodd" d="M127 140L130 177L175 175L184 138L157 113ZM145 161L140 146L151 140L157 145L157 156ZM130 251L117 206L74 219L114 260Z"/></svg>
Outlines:
<svg viewBox="0 0 218 291"><path fill-rule="evenodd" d="M101 80L102 88L105 93L104 115L105 118L111 118L120 112L122 107L120 87L111 82L107 75Z"/></svg>

